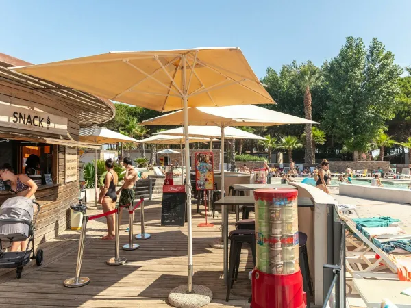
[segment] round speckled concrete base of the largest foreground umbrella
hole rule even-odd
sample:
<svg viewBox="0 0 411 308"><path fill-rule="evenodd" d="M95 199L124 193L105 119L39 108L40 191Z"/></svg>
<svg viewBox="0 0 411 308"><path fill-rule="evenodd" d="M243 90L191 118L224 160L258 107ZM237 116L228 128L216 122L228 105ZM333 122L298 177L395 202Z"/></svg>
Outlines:
<svg viewBox="0 0 411 308"><path fill-rule="evenodd" d="M212 292L204 285L192 285L192 293L187 293L188 286L180 285L169 293L169 304L179 308L203 307L211 302Z"/></svg>

